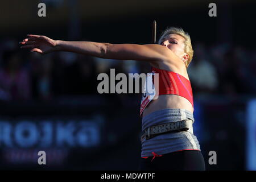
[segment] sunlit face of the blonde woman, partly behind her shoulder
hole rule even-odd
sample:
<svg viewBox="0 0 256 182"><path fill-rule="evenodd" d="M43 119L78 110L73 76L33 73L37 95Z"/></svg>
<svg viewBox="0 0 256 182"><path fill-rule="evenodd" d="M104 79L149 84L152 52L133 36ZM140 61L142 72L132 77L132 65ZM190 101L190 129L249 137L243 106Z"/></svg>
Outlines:
<svg viewBox="0 0 256 182"><path fill-rule="evenodd" d="M184 52L184 41L185 39L183 36L177 34L169 34L165 36L160 44L168 49L171 49L181 60L186 61L188 60L187 53Z"/></svg>

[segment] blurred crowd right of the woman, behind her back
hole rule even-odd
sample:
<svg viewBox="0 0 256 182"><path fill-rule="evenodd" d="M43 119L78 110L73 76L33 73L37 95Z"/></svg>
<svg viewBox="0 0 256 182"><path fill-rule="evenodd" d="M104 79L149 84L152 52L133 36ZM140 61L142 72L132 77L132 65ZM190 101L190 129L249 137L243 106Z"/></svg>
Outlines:
<svg viewBox="0 0 256 182"><path fill-rule="evenodd" d="M256 92L256 51L230 44L196 43L188 75L194 93L236 97Z"/></svg>

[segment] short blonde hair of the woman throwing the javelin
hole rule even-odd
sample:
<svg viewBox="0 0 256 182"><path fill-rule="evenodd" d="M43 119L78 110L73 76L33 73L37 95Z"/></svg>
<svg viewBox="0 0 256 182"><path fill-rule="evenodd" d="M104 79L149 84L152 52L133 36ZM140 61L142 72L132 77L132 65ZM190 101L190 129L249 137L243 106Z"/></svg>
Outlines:
<svg viewBox="0 0 256 182"><path fill-rule="evenodd" d="M180 27L169 27L166 30L164 30L160 36L160 39L158 41L158 44L161 44L162 39L169 35L169 34L177 34L182 36L185 41L184 41L184 52L188 54L189 58L187 61L185 61L185 67L188 69L188 65L189 63L191 63L192 61L192 57L193 57L193 48L192 48L192 44L191 44L191 39L190 36L188 34L188 32L185 32L182 28Z"/></svg>

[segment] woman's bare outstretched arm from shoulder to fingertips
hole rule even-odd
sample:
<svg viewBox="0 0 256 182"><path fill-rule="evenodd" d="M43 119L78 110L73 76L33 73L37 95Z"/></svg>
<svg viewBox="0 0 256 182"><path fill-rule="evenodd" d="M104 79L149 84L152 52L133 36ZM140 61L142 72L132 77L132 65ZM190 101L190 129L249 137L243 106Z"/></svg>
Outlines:
<svg viewBox="0 0 256 182"><path fill-rule="evenodd" d="M159 61L181 60L168 48L158 44L110 44L97 42L69 42L53 40L47 36L28 35L20 42L21 48L30 48L32 52L48 53L52 51L69 51L104 59L138 60L156 63Z"/></svg>

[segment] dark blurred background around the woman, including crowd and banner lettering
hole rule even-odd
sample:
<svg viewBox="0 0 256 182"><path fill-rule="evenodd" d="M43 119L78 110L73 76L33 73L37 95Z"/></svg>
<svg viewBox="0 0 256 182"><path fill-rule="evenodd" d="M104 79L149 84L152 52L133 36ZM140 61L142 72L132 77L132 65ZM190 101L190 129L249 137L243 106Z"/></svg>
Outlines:
<svg viewBox="0 0 256 182"><path fill-rule="evenodd" d="M38 16L40 2L46 3L46 17ZM247 104L256 93L255 2L214 1L217 17L208 15L209 3L2 1L0 168L137 170L141 94L99 94L97 76L110 68L116 74L147 73L149 65L66 52L39 55L20 51L18 42L38 34L148 44L156 20L157 38L170 26L191 35L194 130L207 169L255 170L246 135L252 119ZM40 150L46 151L46 166L37 163ZM209 151L216 151L217 165L208 164Z"/></svg>

